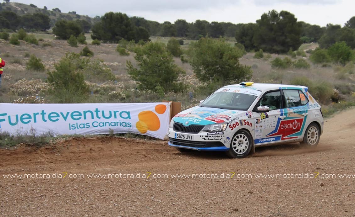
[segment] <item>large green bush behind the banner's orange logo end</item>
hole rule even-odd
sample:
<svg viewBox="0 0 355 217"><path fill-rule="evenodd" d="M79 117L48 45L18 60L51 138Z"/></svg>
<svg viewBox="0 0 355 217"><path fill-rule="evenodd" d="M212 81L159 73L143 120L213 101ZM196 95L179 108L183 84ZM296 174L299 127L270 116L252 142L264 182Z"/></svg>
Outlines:
<svg viewBox="0 0 355 217"><path fill-rule="evenodd" d="M149 42L138 47L134 58L138 68L131 61L126 62L126 67L130 76L139 82L139 89L156 90L161 87L165 92L183 89L178 78L185 71L175 65L173 56L163 43Z"/></svg>

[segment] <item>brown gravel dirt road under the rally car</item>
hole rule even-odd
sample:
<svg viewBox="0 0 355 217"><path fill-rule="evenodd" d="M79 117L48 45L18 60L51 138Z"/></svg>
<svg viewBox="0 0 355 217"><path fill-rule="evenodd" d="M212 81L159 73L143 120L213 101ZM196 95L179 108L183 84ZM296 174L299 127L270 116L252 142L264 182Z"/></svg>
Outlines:
<svg viewBox="0 0 355 217"><path fill-rule="evenodd" d="M339 177L355 174L355 110L324 125L315 149L273 146L244 159L100 137L1 150L0 216L355 216L355 179ZM36 173L45 177L24 178Z"/></svg>

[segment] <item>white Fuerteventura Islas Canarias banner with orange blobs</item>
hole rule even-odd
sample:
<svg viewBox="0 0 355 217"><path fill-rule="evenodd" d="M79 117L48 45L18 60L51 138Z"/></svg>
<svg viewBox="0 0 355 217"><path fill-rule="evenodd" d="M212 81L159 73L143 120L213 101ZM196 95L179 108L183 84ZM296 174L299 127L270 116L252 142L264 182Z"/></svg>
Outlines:
<svg viewBox="0 0 355 217"><path fill-rule="evenodd" d="M163 139L170 102L117 104L0 103L0 130L11 134L135 133ZM112 131L111 131L112 132Z"/></svg>

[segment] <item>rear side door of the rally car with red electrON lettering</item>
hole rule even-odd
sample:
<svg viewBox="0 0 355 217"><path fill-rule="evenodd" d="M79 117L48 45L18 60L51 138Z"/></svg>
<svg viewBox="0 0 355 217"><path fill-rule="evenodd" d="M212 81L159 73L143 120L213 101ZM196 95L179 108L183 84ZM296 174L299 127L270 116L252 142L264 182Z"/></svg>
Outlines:
<svg viewBox="0 0 355 217"><path fill-rule="evenodd" d="M308 99L302 90L283 89L282 90L285 110L284 118L280 122L280 129L283 131L282 140L301 138L304 127L306 126L308 109L306 104Z"/></svg>

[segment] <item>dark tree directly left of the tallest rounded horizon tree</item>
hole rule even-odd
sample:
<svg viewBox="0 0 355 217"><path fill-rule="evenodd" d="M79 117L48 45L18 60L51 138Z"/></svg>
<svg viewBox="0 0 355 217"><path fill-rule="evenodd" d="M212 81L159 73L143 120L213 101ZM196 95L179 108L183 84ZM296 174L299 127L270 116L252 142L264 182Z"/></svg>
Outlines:
<svg viewBox="0 0 355 217"><path fill-rule="evenodd" d="M236 31L235 39L239 44L244 45L247 51L255 49L253 37L256 27L255 23L240 24L240 27Z"/></svg>

